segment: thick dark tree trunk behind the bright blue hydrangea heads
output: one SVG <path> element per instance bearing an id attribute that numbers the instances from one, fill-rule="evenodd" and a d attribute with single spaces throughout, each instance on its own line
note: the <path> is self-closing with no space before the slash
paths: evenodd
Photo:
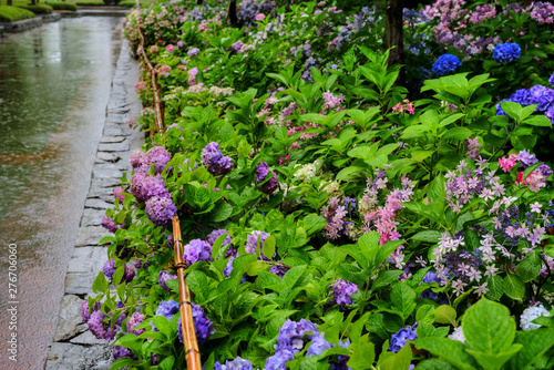
<path id="1" fill-rule="evenodd" d="M 387 49 L 391 49 L 389 52 L 389 66 L 393 64 L 406 64 L 404 60 L 404 38 L 402 34 L 402 9 L 403 0 L 388 0 L 387 11 L 386 11 L 386 43 Z M 397 80 L 397 85 L 406 85 L 406 70 L 402 68 Z"/>

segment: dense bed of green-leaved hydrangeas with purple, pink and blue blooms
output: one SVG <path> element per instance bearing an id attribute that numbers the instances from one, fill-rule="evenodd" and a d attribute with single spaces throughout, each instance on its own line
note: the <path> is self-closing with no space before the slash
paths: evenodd
<path id="1" fill-rule="evenodd" d="M 406 10 L 406 66 L 378 7 L 225 7 L 126 19 L 166 127 L 144 73 L 82 308 L 113 369 L 185 367 L 175 215 L 205 369 L 554 367 L 550 4 Z"/>

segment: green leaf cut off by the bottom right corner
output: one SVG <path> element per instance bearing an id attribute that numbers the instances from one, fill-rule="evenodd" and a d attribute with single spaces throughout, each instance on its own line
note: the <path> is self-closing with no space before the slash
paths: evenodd
<path id="1" fill-rule="evenodd" d="M 553 329 L 536 329 L 530 331 L 517 331 L 514 343 L 523 348 L 506 363 L 507 370 L 527 369 L 542 354 L 554 346 Z"/>

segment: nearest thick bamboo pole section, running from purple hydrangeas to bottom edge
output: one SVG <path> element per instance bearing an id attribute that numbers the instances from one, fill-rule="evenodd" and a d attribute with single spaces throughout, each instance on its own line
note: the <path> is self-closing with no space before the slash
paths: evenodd
<path id="1" fill-rule="evenodd" d="M 175 266 L 177 267 L 178 297 L 181 300 L 181 329 L 183 330 L 186 368 L 188 370 L 201 370 L 201 351 L 196 341 L 196 331 L 194 330 L 191 291 L 183 276 L 186 265 L 183 263 L 183 241 L 181 239 L 181 226 L 177 215 L 173 217 L 173 248 L 175 250 Z"/>

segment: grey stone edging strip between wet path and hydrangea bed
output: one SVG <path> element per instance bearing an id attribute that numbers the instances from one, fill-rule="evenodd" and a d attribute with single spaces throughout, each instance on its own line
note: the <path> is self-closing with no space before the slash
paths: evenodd
<path id="1" fill-rule="evenodd" d="M 144 134 L 127 125 L 129 119 L 137 116 L 141 110 L 133 89 L 138 75 L 138 63 L 131 58 L 125 40 L 112 82 L 103 136 L 92 169 L 75 248 L 65 276 L 64 296 L 44 367 L 48 370 L 100 370 L 109 369 L 111 364 L 111 346 L 88 330 L 80 308 L 81 302 L 92 294 L 92 284 L 107 260 L 107 247 L 98 246 L 98 241 L 107 235 L 100 226 L 101 218 L 107 208 L 113 207 L 113 192 L 121 185 L 123 172 L 131 173 L 131 150 L 144 143 Z"/>

